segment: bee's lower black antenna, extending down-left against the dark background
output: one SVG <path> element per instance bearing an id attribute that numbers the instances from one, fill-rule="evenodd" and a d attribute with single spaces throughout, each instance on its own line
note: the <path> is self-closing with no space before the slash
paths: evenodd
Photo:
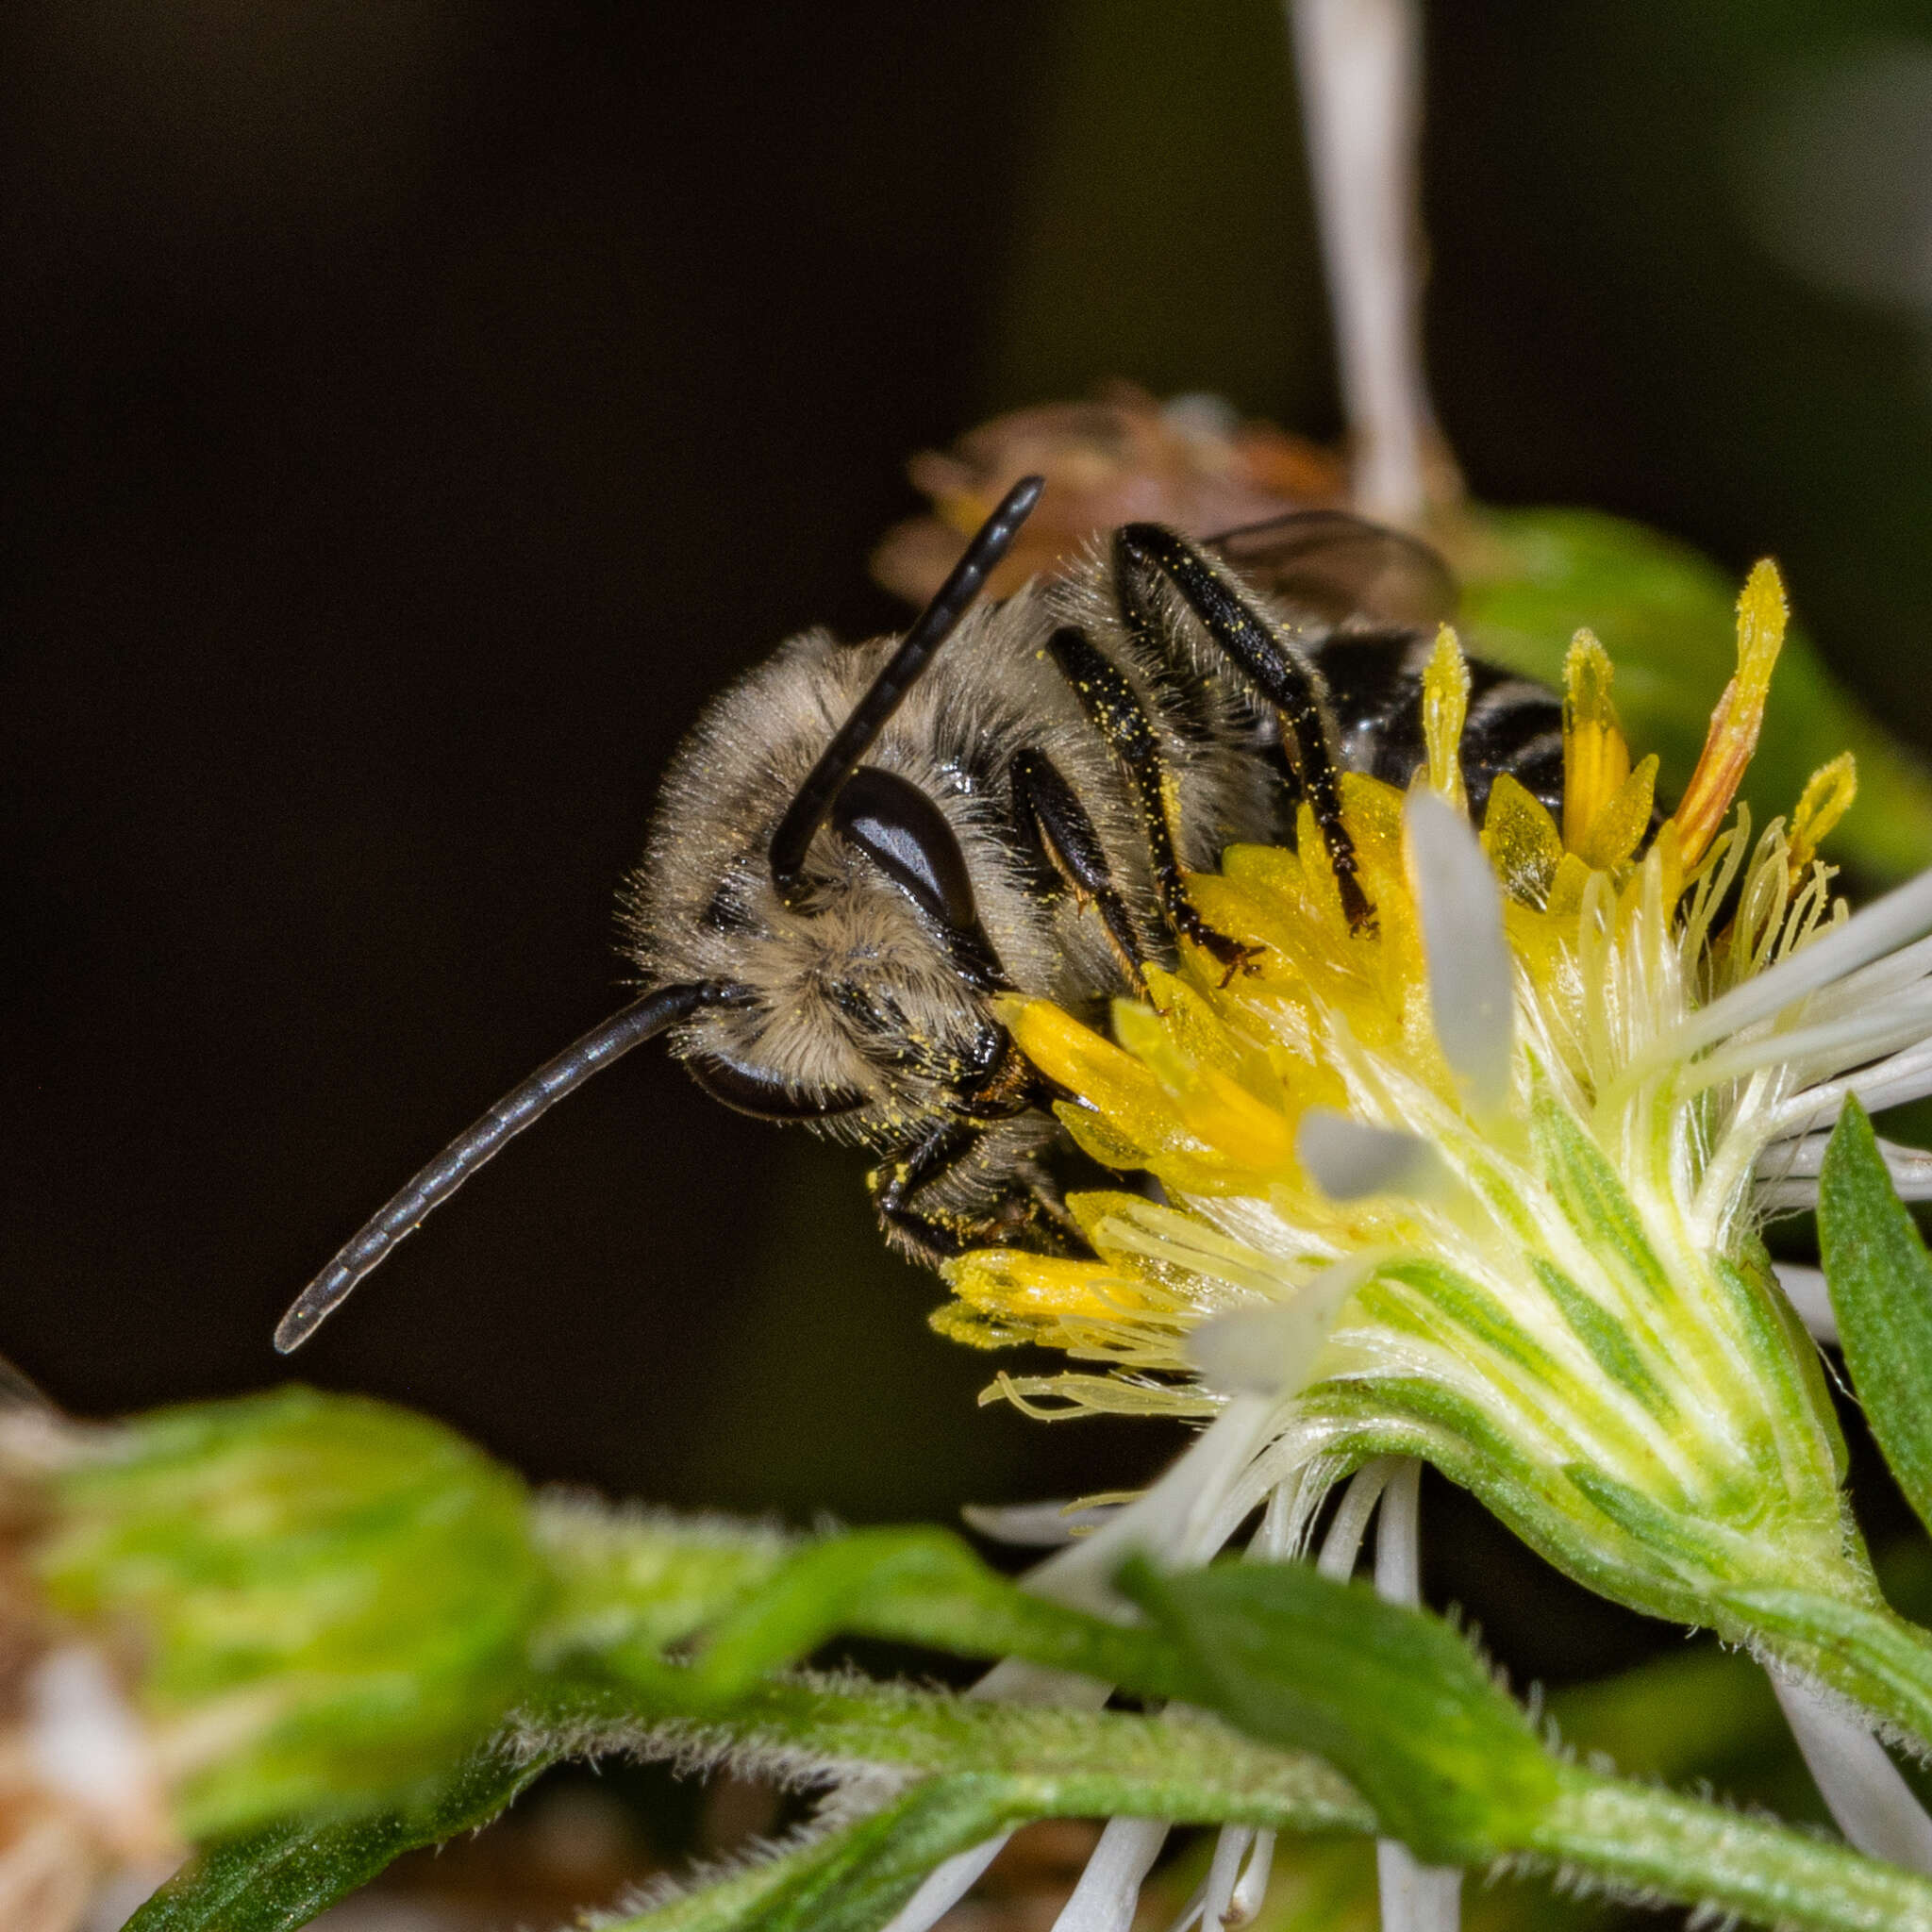
<path id="1" fill-rule="evenodd" d="M 688 1018 L 699 1007 L 717 1007 L 738 997 L 736 987 L 715 981 L 665 985 L 612 1012 L 580 1041 L 545 1061 L 468 1132 L 458 1134 L 413 1180 L 336 1250 L 334 1260 L 296 1296 L 274 1331 L 276 1352 L 299 1349 L 350 1296 L 350 1289 L 369 1269 L 388 1258 L 404 1235 L 413 1235 L 423 1217 L 440 1208 L 487 1159 L 547 1113 L 591 1074 L 630 1053 L 655 1034 Z"/>

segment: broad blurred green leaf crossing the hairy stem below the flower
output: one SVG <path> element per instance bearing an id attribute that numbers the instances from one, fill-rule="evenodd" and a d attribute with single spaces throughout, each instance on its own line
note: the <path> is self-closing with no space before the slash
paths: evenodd
<path id="1" fill-rule="evenodd" d="M 1549 1808 L 1553 1760 L 1447 1625 L 1296 1563 L 1169 1577 L 1138 1563 L 1122 1582 L 1211 1708 L 1327 1758 L 1424 1861 L 1493 1859 Z"/>

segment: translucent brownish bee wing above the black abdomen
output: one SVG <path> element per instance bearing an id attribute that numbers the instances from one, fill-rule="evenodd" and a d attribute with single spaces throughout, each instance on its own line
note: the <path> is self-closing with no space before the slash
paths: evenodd
<path id="1" fill-rule="evenodd" d="M 1341 624 L 1434 626 L 1455 616 L 1455 574 L 1426 545 L 1347 510 L 1294 510 L 1208 539 L 1256 589 Z"/>

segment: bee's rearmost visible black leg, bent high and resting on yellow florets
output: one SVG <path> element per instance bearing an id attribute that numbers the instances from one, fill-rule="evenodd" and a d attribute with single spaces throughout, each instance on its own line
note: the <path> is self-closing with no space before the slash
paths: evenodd
<path id="1" fill-rule="evenodd" d="M 1289 761 L 1321 829 L 1349 927 L 1374 929 L 1376 908 L 1356 877 L 1354 840 L 1341 815 L 1321 674 L 1192 543 L 1165 526 L 1126 524 L 1117 529 L 1113 568 L 1122 601 L 1144 601 L 1153 578 L 1167 578 L 1235 668 L 1281 713 Z"/>

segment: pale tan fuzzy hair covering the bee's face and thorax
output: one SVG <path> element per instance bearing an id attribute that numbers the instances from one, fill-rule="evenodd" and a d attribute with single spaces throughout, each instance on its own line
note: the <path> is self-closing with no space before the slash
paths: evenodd
<path id="1" fill-rule="evenodd" d="M 1020 750 L 1059 767 L 1155 956 L 1171 951 L 1134 796 L 1047 655 L 1055 628 L 1078 622 L 1140 692 L 1175 779 L 1184 866 L 1211 866 L 1233 838 L 1267 837 L 1279 804 L 1277 781 L 1252 755 L 1252 705 L 1233 680 L 1208 674 L 1192 618 L 1167 612 L 1163 630 L 1186 638 L 1177 663 L 1200 676 L 1196 707 L 1213 728 L 1173 726 L 1173 667 L 1140 661 L 1107 568 L 1095 553 L 1051 591 L 1028 587 L 972 611 L 866 757 L 945 813 L 1012 985 L 1074 1010 L 1094 1010 L 1128 980 L 1092 906 L 1043 875 L 1022 842 L 1012 808 Z M 667 773 L 645 862 L 624 895 L 628 951 L 647 983 L 724 981 L 752 995 L 694 1014 L 674 1051 L 755 1065 L 804 1092 L 862 1094 L 860 1109 L 823 1126 L 869 1146 L 902 1144 L 943 1107 L 935 1074 L 970 1059 L 989 1024 L 985 1001 L 910 898 L 846 840 L 819 831 L 800 910 L 779 896 L 769 850 L 786 804 L 895 641 L 842 645 L 811 630 L 723 692 Z M 856 1018 L 866 1007 L 885 1024 Z M 1051 1134 L 1039 1117 L 1007 1122 L 985 1136 L 970 1167 L 1010 1171 L 1016 1151 Z M 970 1179 L 960 1179 L 970 1194 Z"/>

